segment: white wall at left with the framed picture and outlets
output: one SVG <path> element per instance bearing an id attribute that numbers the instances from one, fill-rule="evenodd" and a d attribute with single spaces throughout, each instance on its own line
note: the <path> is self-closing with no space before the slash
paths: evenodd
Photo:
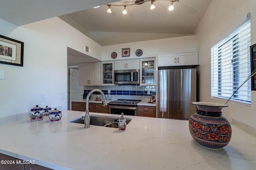
<path id="1" fill-rule="evenodd" d="M 83 53 L 89 45 L 96 49 L 94 58 L 102 57 L 100 45 L 57 17 L 20 27 L 0 19 L 0 35 L 24 42 L 23 67 L 0 64 L 6 74 L 0 80 L 0 117 L 27 113 L 36 105 L 67 109 L 67 47 Z M 41 93 L 46 102 L 39 102 Z"/>

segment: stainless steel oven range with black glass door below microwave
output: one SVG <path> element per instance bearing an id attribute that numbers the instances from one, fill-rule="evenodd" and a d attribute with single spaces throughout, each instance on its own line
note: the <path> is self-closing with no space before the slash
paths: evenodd
<path id="1" fill-rule="evenodd" d="M 124 115 L 137 115 L 137 104 L 141 100 L 123 100 L 118 99 L 109 102 L 109 113 L 120 115 L 122 112 Z"/>

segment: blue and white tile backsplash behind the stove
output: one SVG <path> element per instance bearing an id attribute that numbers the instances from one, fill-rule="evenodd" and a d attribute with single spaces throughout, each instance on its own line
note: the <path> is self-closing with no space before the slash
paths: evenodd
<path id="1" fill-rule="evenodd" d="M 84 94 L 88 94 L 93 89 L 100 89 L 104 94 L 108 94 L 108 90 L 110 90 L 111 95 L 151 96 L 152 94 L 156 94 L 156 86 L 136 85 L 84 86 Z"/>

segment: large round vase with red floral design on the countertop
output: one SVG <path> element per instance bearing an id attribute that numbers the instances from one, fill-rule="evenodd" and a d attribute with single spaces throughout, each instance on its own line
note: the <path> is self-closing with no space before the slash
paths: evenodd
<path id="1" fill-rule="evenodd" d="M 196 113 L 189 119 L 189 131 L 200 145 L 210 149 L 221 149 L 230 142 L 231 125 L 222 116 L 221 109 L 228 105 L 211 102 L 193 102 Z"/>

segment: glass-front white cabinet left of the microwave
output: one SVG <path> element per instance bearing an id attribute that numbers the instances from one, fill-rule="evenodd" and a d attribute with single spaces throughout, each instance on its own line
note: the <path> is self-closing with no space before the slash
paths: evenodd
<path id="1" fill-rule="evenodd" d="M 114 86 L 114 61 L 101 62 L 101 85 Z"/>

